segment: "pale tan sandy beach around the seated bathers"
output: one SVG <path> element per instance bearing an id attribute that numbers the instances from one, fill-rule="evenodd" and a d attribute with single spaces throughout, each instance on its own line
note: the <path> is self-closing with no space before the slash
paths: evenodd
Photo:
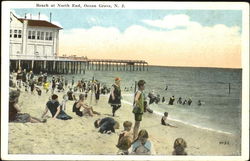
<path id="1" fill-rule="evenodd" d="M 40 118 L 45 109 L 51 92 L 43 91 L 42 96 L 30 94 L 22 89 L 19 103 L 22 112 Z M 63 93 L 56 93 L 61 102 Z M 78 98 L 78 94 L 76 94 Z M 90 97 L 88 97 L 89 99 Z M 123 130 L 123 122 L 128 120 L 134 124 L 132 107 L 122 103 L 122 107 L 114 117 L 120 123 L 120 128 L 110 135 L 98 133 L 94 127 L 97 118 L 111 116 L 111 107 L 107 103 L 108 95 L 101 95 L 97 105 L 93 104 L 100 116 L 78 117 L 72 112 L 74 101 L 67 102 L 66 113 L 72 120 L 52 119 L 47 113 L 47 123 L 9 123 L 9 154 L 97 154 L 115 155 L 118 135 Z M 88 100 L 89 102 L 89 100 Z M 94 102 L 94 98 L 93 98 Z M 145 113 L 140 129 L 149 132 L 156 155 L 171 155 L 174 140 L 182 137 L 187 142 L 188 155 L 199 156 L 238 156 L 241 155 L 240 137 L 199 129 L 180 122 L 169 121 L 178 128 L 166 127 L 160 124 L 161 117 Z"/>

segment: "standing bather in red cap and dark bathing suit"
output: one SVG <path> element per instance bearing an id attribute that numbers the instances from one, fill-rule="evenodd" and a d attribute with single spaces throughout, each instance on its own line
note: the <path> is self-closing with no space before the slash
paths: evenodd
<path id="1" fill-rule="evenodd" d="M 112 85 L 111 93 L 108 103 L 112 107 L 112 114 L 115 116 L 115 112 L 121 107 L 121 78 L 115 78 L 115 84 Z"/>

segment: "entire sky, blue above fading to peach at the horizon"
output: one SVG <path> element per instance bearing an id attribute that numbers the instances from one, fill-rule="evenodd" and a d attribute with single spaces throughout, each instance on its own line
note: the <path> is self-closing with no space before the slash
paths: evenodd
<path id="1" fill-rule="evenodd" d="M 240 10 L 12 9 L 61 26 L 59 55 L 241 68 Z"/>

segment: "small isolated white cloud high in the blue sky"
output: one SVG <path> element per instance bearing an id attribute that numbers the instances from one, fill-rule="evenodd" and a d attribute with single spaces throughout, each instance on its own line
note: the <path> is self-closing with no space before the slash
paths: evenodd
<path id="1" fill-rule="evenodd" d="M 177 27 L 200 27 L 199 23 L 189 20 L 185 14 L 167 15 L 158 20 L 142 20 L 147 25 L 160 27 L 164 29 L 174 29 Z"/>

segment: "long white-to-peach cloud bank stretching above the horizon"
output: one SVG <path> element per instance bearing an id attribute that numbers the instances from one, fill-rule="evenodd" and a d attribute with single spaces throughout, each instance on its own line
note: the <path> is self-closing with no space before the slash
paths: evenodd
<path id="1" fill-rule="evenodd" d="M 170 31 L 139 25 L 130 26 L 124 32 L 100 26 L 62 30 L 59 55 L 140 59 L 165 66 L 241 67 L 239 27 L 223 24 L 203 27 L 197 22 L 190 23 L 187 18 L 185 24 L 189 27 Z"/>

